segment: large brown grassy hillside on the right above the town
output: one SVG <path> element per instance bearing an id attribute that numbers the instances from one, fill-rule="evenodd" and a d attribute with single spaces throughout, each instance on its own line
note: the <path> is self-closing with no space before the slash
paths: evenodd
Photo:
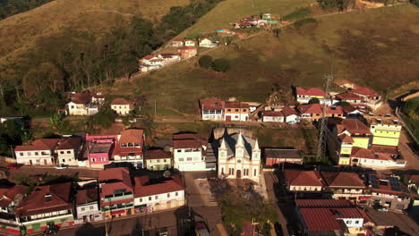
<path id="1" fill-rule="evenodd" d="M 330 72 L 331 58 L 340 79 L 384 92 L 417 80 L 418 8 L 409 4 L 365 12 L 324 16 L 317 23 L 269 32 L 210 51 L 227 58 L 227 73 L 201 69 L 197 58 L 135 80 L 119 83 L 115 93 L 142 94 L 159 108 L 198 114 L 201 97 L 262 101 L 274 84 L 317 86 Z"/>

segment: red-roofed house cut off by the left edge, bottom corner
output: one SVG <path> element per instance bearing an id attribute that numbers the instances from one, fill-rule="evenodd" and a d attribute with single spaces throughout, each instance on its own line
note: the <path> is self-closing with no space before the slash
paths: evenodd
<path id="1" fill-rule="evenodd" d="M 28 186 L 0 188 L 0 234 L 21 234 L 14 209 L 29 191 Z"/>

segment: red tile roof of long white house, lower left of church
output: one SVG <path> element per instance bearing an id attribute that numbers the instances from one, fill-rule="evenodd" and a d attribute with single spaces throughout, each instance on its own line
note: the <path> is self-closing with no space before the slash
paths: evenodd
<path id="1" fill-rule="evenodd" d="M 148 176 L 135 177 L 135 198 L 142 198 L 162 193 L 184 190 L 184 184 L 179 176 L 172 176 L 171 180 L 165 180 L 152 184 Z"/>

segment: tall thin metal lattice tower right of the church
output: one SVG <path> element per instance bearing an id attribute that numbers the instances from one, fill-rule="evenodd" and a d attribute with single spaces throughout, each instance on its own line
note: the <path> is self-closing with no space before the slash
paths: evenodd
<path id="1" fill-rule="evenodd" d="M 326 93 L 326 96 L 329 95 L 329 87 L 332 80 L 333 80 L 333 74 L 324 75 L 323 89 L 324 89 L 324 92 Z M 326 133 L 325 131 L 326 129 L 328 129 L 327 127 L 328 117 L 326 114 L 328 105 L 329 105 L 329 98 L 327 97 L 323 103 L 321 120 L 319 123 L 319 142 L 317 144 L 317 155 L 316 155 L 317 161 L 321 161 L 322 159 L 324 160 L 324 158 L 326 157 Z"/>

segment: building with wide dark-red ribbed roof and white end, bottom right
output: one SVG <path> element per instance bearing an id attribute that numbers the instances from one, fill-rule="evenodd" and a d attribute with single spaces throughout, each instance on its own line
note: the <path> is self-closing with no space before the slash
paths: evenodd
<path id="1" fill-rule="evenodd" d="M 357 235 L 365 233 L 368 218 L 347 200 L 297 199 L 295 212 L 304 235 Z"/>

